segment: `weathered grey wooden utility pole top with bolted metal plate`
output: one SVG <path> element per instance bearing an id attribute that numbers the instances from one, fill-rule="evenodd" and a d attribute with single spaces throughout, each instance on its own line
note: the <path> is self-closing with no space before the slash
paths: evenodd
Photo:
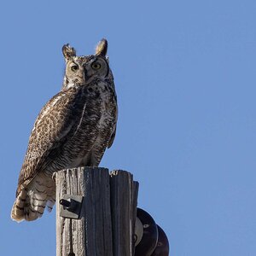
<path id="1" fill-rule="evenodd" d="M 56 255 L 132 256 L 138 183 L 125 171 L 55 172 Z"/>

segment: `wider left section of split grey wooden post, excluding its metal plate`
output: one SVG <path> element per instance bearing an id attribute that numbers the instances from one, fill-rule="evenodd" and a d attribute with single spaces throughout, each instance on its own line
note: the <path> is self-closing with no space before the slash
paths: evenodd
<path id="1" fill-rule="evenodd" d="M 57 256 L 112 256 L 108 169 L 80 167 L 56 172 Z M 79 219 L 62 218 L 64 194 L 83 195 Z"/>

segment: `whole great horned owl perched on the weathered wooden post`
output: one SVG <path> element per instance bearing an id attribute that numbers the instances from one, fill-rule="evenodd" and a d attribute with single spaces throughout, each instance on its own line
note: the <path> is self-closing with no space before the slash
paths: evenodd
<path id="1" fill-rule="evenodd" d="M 61 91 L 38 114 L 20 170 L 11 218 L 34 220 L 55 204 L 53 172 L 98 166 L 115 137 L 117 98 L 106 57 L 106 39 L 96 54 L 77 56 L 62 48 L 66 73 Z"/>

